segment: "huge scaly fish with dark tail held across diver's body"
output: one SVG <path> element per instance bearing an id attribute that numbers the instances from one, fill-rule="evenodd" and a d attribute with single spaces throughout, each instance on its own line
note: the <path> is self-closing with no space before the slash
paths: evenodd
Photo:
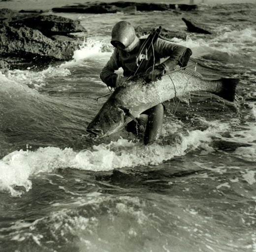
<path id="1" fill-rule="evenodd" d="M 87 131 L 104 137 L 123 129 L 130 121 L 157 104 L 185 93 L 206 91 L 233 101 L 238 79 L 204 80 L 192 70 L 180 70 L 146 83 L 143 78 L 118 87 L 103 104 Z"/>

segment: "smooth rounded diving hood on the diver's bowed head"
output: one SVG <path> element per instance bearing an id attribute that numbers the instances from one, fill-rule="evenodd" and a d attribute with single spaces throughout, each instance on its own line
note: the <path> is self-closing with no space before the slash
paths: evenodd
<path id="1" fill-rule="evenodd" d="M 120 49 L 128 47 L 136 38 L 133 26 L 127 21 L 116 23 L 111 33 L 111 44 Z"/>

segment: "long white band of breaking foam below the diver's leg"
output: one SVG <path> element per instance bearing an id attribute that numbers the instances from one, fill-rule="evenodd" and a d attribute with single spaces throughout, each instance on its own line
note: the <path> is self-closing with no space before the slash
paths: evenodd
<path id="1" fill-rule="evenodd" d="M 56 147 L 39 148 L 36 151 L 14 151 L 0 160 L 0 188 L 13 196 L 20 196 L 32 188 L 32 177 L 41 172 L 51 173 L 58 168 L 92 171 L 108 171 L 115 168 L 157 165 L 164 160 L 183 156 L 187 152 L 202 148 L 209 151 L 211 137 L 216 137 L 220 128 L 214 122 L 207 130 L 193 130 L 177 134 L 176 140 L 166 145 L 154 143 L 145 146 L 126 139 L 109 144 L 93 146 L 91 150 L 75 152 Z M 221 126 L 221 125 L 220 125 Z M 166 139 L 165 139 L 166 140 Z"/>

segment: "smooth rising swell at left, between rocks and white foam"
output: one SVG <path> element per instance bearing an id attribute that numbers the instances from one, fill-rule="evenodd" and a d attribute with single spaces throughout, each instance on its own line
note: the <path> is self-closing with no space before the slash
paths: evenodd
<path id="1" fill-rule="evenodd" d="M 88 113 L 79 100 L 40 94 L 0 74 L 0 132 L 10 143 L 68 146 L 86 133 Z"/>

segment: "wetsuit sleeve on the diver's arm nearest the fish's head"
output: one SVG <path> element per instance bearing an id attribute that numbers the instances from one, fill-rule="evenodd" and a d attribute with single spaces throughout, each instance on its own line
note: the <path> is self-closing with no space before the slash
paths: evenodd
<path id="1" fill-rule="evenodd" d="M 117 74 L 114 73 L 115 70 L 118 70 L 120 67 L 118 59 L 118 51 L 115 48 L 114 52 L 111 55 L 110 60 L 102 68 L 100 72 L 100 79 L 107 84 L 108 87 L 114 88 L 116 86 Z"/>

